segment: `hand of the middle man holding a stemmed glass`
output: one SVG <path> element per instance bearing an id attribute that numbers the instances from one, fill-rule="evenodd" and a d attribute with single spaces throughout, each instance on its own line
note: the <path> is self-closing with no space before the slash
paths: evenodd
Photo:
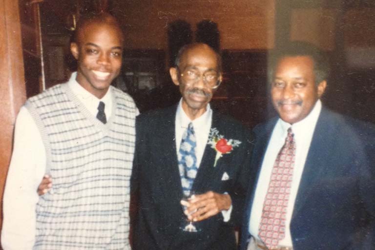
<path id="1" fill-rule="evenodd" d="M 204 194 L 193 195 L 188 202 L 181 201 L 187 209 L 184 211 L 189 220 L 202 221 L 228 210 L 232 204 L 229 194 L 208 191 Z"/>

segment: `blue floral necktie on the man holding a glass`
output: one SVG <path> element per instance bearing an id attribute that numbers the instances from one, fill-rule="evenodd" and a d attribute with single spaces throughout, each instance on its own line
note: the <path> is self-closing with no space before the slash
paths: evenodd
<path id="1" fill-rule="evenodd" d="M 193 124 L 189 123 L 187 130 L 182 135 L 181 146 L 178 155 L 178 167 L 180 169 L 182 190 L 188 196 L 195 176 L 198 171 L 197 157 L 195 155 L 196 139 Z"/>

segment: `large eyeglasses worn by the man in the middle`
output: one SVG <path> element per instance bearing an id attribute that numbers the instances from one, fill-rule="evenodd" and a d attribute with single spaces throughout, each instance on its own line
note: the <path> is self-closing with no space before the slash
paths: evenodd
<path id="1" fill-rule="evenodd" d="M 177 68 L 180 71 L 179 68 Z M 201 77 L 203 78 L 203 82 L 208 85 L 210 88 L 217 88 L 219 87 L 220 75 L 215 70 L 207 70 L 203 74 L 196 69 L 186 69 L 180 74 L 182 80 L 185 83 L 197 83 Z"/>

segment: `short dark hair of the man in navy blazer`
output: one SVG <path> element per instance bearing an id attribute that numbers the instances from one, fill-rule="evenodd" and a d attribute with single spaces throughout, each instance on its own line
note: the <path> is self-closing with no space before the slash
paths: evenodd
<path id="1" fill-rule="evenodd" d="M 275 48 L 269 55 L 268 79 L 271 83 L 277 63 L 285 57 L 307 56 L 314 62 L 315 85 L 327 80 L 330 63 L 326 53 L 308 42 L 293 41 Z"/>

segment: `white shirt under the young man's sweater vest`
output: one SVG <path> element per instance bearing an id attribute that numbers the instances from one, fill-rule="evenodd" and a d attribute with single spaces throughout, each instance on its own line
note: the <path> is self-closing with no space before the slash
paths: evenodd
<path id="1" fill-rule="evenodd" d="M 77 83 L 73 73 L 67 83 L 87 110 L 96 117 L 99 102 L 105 104 L 107 120 L 112 114 L 112 91 L 99 100 Z M 110 87 L 111 88 L 111 87 Z M 37 188 L 46 171 L 46 152 L 41 133 L 22 106 L 17 116 L 14 147 L 3 198 L 1 245 L 4 250 L 31 250 L 36 234 Z"/>

